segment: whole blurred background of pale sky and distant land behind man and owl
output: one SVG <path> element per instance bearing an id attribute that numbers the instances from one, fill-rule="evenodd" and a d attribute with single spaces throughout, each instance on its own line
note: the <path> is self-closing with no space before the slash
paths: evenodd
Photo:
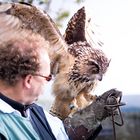
<path id="1" fill-rule="evenodd" d="M 111 63 L 103 80 L 93 94 L 117 88 L 123 92 L 122 127 L 116 127 L 117 140 L 140 140 L 140 1 L 139 0 L 0 0 L 27 2 L 46 11 L 57 24 L 62 35 L 67 23 L 82 6 L 86 7 L 90 37 L 103 42 Z M 94 33 L 93 33 L 94 32 Z M 88 36 L 87 36 L 88 37 Z M 53 103 L 51 85 L 40 96 L 38 104 L 48 110 Z M 103 130 L 97 140 L 113 140 L 112 122 L 102 122 Z"/>

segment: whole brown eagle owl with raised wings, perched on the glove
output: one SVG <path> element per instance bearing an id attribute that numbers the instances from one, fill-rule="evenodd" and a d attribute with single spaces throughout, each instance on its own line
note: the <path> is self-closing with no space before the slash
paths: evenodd
<path id="1" fill-rule="evenodd" d="M 6 36 L 28 31 L 41 35 L 49 43 L 52 91 L 55 100 L 50 113 L 66 118 L 84 108 L 94 96 L 90 92 L 109 66 L 102 50 L 91 46 L 85 37 L 86 14 L 84 7 L 71 18 L 64 36 L 47 13 L 33 5 L 2 3 L 0 5 L 0 33 Z M 8 32 L 7 32 L 8 31 Z M 37 36 L 38 37 L 38 36 Z"/>

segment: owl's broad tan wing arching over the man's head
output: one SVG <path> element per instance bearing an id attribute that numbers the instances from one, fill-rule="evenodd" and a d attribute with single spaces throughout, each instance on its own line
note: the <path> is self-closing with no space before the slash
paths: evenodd
<path id="1" fill-rule="evenodd" d="M 66 55 L 67 45 L 55 23 L 47 13 L 33 5 L 1 3 L 0 27 L 4 27 L 0 28 L 0 41 L 14 38 L 14 35 L 26 30 L 40 34 L 50 43 L 49 55 L 53 65 Z"/>

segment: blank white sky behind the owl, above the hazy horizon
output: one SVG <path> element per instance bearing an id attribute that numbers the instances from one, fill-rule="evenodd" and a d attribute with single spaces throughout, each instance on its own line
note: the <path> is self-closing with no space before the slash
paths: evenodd
<path id="1" fill-rule="evenodd" d="M 101 49 L 111 63 L 95 93 L 117 88 L 125 95 L 140 95 L 140 1 L 85 0 L 81 5 L 74 5 L 72 0 L 62 0 L 55 6 L 70 10 L 71 16 L 85 6 L 92 24 L 97 25 L 97 31 L 99 29 L 99 37 L 104 43 Z"/>

